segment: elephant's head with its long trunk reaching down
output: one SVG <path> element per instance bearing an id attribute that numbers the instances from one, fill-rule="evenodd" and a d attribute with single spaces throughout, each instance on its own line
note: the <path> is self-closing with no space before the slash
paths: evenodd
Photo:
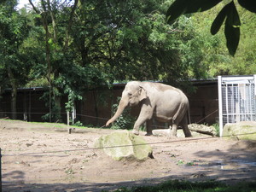
<path id="1" fill-rule="evenodd" d="M 132 81 L 126 84 L 125 90 L 123 91 L 121 100 L 119 102 L 118 109 L 116 113 L 113 115 L 113 117 L 108 120 L 106 126 L 108 126 L 109 124 L 113 123 L 113 121 L 118 119 L 127 106 L 135 106 L 147 97 L 147 91 L 144 90 L 140 82 Z"/>

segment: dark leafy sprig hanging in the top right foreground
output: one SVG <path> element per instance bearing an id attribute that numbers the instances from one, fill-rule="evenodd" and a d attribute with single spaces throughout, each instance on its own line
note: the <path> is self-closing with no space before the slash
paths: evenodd
<path id="1" fill-rule="evenodd" d="M 224 1 L 225 0 L 176 0 L 166 12 L 166 21 L 167 23 L 172 24 L 181 15 L 206 11 Z M 238 3 L 244 9 L 256 13 L 255 0 L 238 0 Z M 236 4 L 233 0 L 230 3 L 227 3 L 218 13 L 215 20 L 213 20 L 211 27 L 212 35 L 215 35 L 218 32 L 223 23 L 227 48 L 229 49 L 230 55 L 234 56 L 240 40 L 241 21 L 236 9 Z"/>

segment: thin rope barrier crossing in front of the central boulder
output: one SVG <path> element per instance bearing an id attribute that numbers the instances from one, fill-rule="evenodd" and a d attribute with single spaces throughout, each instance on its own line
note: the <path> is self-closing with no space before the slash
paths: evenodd
<path id="1" fill-rule="evenodd" d="M 237 137 L 237 136 L 252 135 L 252 134 L 256 134 L 256 131 L 250 132 L 250 133 L 237 134 L 237 135 L 223 136 L 223 137 Z M 166 142 L 139 143 L 139 144 L 131 144 L 131 145 L 116 145 L 116 146 L 101 147 L 101 148 L 67 149 L 67 150 L 58 150 L 58 151 L 44 151 L 44 152 L 38 152 L 38 153 L 26 153 L 26 154 L 3 154 L 3 156 L 38 156 L 38 154 L 67 153 L 67 152 L 75 152 L 75 151 L 98 150 L 98 149 L 104 149 L 104 148 L 125 148 L 125 147 L 136 147 L 136 146 L 142 146 L 142 145 L 157 145 L 157 144 L 163 144 L 163 143 L 194 142 L 194 141 L 199 141 L 199 140 L 216 139 L 216 138 L 220 138 L 220 137 L 186 138 L 186 139 L 172 140 L 172 141 L 166 141 Z M 40 156 L 43 156 L 43 155 L 40 155 Z"/>

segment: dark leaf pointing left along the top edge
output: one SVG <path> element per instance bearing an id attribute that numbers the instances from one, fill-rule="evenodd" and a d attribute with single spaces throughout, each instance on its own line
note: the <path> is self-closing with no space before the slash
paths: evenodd
<path id="1" fill-rule="evenodd" d="M 176 0 L 166 12 L 166 21 L 172 24 L 180 15 L 211 9 L 222 0 Z"/>

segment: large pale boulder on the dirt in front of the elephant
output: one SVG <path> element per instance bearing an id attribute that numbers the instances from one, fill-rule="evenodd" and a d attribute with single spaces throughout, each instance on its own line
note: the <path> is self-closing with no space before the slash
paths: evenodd
<path id="1" fill-rule="evenodd" d="M 113 160 L 147 160 L 148 157 L 153 157 L 152 148 L 146 144 L 143 137 L 135 136 L 129 131 L 102 136 L 96 140 L 95 147 L 102 148 Z"/>

